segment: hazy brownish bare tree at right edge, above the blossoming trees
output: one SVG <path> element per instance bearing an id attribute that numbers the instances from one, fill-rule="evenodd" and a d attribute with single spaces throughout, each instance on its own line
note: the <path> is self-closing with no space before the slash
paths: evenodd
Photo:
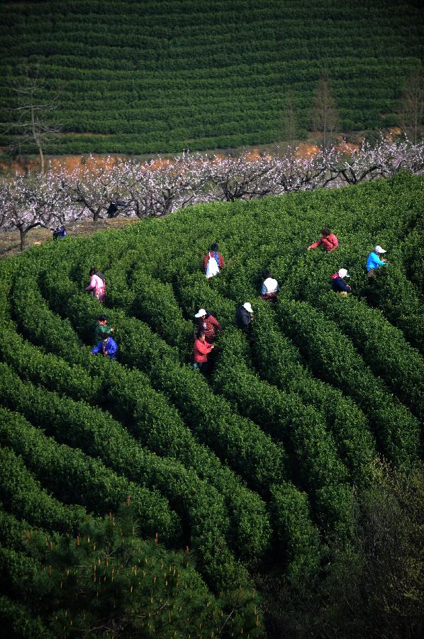
<path id="1" fill-rule="evenodd" d="M 401 126 L 416 144 L 422 132 L 424 115 L 424 74 L 417 65 L 408 75 L 401 99 Z"/>

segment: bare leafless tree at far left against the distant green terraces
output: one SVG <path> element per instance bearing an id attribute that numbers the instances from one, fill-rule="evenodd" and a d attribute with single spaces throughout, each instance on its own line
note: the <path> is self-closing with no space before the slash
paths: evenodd
<path id="1" fill-rule="evenodd" d="M 10 148 L 13 152 L 25 145 L 33 145 L 40 156 L 40 172 L 44 172 L 45 148 L 55 133 L 61 130 L 55 121 L 59 107 L 58 94 L 47 94 L 45 80 L 40 77 L 39 67 L 23 67 L 23 77 L 13 87 L 17 106 L 13 109 L 13 123 L 6 132 L 11 133 Z"/>

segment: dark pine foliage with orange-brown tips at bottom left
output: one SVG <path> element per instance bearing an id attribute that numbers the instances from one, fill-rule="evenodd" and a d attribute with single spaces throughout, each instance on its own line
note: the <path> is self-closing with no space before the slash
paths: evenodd
<path id="1" fill-rule="evenodd" d="M 10 515 L 2 519 L 15 531 L 24 528 Z M 2 621 L 6 618 L 18 636 L 40 636 L 38 615 L 45 619 L 47 636 L 96 632 L 105 637 L 171 637 L 189 632 L 199 637 L 225 628 L 228 602 L 208 591 L 191 553 L 140 540 L 133 508 L 121 508 L 117 518 L 87 520 L 77 537 L 46 536 L 25 527 L 18 539 L 19 550 L 0 549 L 1 586 L 12 596 L 21 592 L 25 605 L 12 603 L 12 621 L 11 612 L 4 610 L 7 600 L 1 599 Z M 224 635 L 256 636 L 260 619 L 255 599 L 239 597 L 234 605 Z M 28 628 L 31 613 L 35 618 Z"/>

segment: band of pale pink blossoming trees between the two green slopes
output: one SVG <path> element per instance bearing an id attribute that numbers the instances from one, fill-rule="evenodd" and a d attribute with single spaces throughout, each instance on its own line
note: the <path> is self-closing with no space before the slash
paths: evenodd
<path id="1" fill-rule="evenodd" d="M 184 153 L 159 165 L 157 160 L 118 160 L 115 165 L 106 163 L 106 168 L 85 163 L 72 173 L 50 170 L 1 180 L 0 226 L 18 229 L 23 248 L 26 234 L 35 226 L 66 226 L 88 218 L 96 221 L 116 201 L 125 202 L 117 214 L 142 219 L 189 204 L 254 200 L 423 169 L 424 143 L 392 142 L 383 137 L 376 146 L 363 141 L 350 155 L 333 147 L 308 157 L 289 150 L 286 155 L 254 160 L 248 155 L 218 158 Z"/>

